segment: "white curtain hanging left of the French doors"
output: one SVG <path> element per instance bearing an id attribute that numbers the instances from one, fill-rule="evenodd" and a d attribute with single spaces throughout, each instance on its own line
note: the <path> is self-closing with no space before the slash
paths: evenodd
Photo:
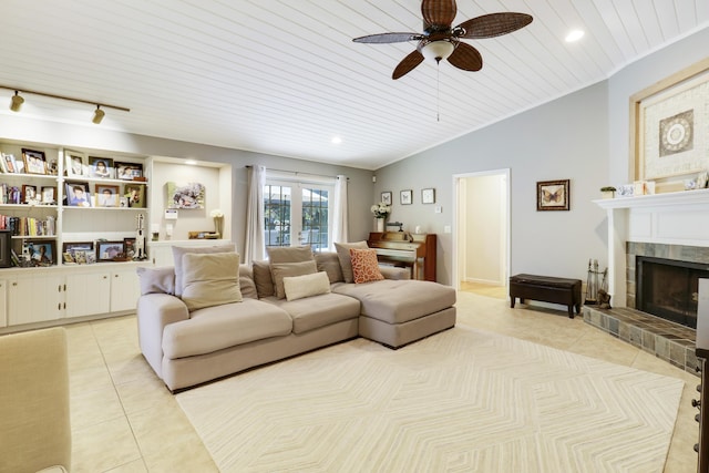
<path id="1" fill-rule="evenodd" d="M 266 167 L 251 166 L 248 169 L 248 200 L 246 207 L 246 241 L 244 243 L 244 263 L 266 258 L 264 236 L 264 186 Z"/>

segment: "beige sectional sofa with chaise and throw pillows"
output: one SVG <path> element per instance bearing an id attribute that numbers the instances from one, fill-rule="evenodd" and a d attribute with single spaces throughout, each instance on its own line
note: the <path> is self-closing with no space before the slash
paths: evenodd
<path id="1" fill-rule="evenodd" d="M 174 268 L 138 269 L 143 356 L 176 391 L 359 336 L 399 348 L 455 325 L 453 288 L 384 267 L 356 284 L 349 249 L 278 248 L 246 266 L 232 246 L 174 247 Z"/>

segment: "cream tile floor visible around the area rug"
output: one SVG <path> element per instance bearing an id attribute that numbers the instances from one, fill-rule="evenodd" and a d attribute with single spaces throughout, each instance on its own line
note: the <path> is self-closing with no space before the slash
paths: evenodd
<path id="1" fill-rule="evenodd" d="M 459 292 L 459 321 L 686 381 L 665 471 L 693 472 L 698 378 L 559 310 L 504 294 Z M 214 472 L 202 441 L 143 360 L 134 316 L 66 326 L 72 398 L 72 472 Z"/>

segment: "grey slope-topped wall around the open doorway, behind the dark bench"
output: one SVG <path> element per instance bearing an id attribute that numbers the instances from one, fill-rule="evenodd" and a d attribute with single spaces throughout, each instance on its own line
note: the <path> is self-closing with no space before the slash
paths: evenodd
<path id="1" fill-rule="evenodd" d="M 452 176 L 510 168 L 511 274 L 583 280 L 588 258 L 606 255 L 605 235 L 596 233 L 605 213 L 590 200 L 608 175 L 607 115 L 604 82 L 382 167 L 376 193 L 394 192 L 391 218 L 405 229 L 422 225 L 439 235 L 439 281 L 452 285 Z M 441 114 L 441 126 L 449 116 Z M 557 179 L 571 181 L 571 210 L 537 212 L 536 183 Z M 415 198 L 424 187 L 436 188 L 441 213 Z M 399 205 L 402 188 L 414 189 L 413 205 Z"/>

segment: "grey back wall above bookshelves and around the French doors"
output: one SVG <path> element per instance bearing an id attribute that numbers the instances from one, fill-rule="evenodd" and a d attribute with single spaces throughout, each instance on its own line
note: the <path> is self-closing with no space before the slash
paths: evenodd
<path id="1" fill-rule="evenodd" d="M 11 114 L 11 115 L 10 115 Z M 232 239 L 239 253 L 243 253 L 246 235 L 246 202 L 247 202 L 247 165 L 263 165 L 267 168 L 336 176 L 348 176 L 349 186 L 349 227 L 350 240 L 367 239 L 372 225 L 369 196 L 372 195 L 372 175 L 368 169 L 336 166 L 291 157 L 274 156 L 242 150 L 209 146 L 198 143 L 165 140 L 106 130 L 89 124 L 73 125 L 55 123 L 12 112 L 0 112 L 0 140 L 21 141 L 25 144 L 37 144 L 48 147 L 79 147 L 102 151 L 103 156 L 110 153 L 135 154 L 141 156 L 169 156 L 191 158 L 205 162 L 232 164 L 232 213 L 225 218 L 225 225 L 230 226 Z M 150 185 L 150 183 L 148 183 Z M 158 188 L 156 192 L 164 192 Z M 364 199 L 361 196 L 366 196 Z M 155 209 L 163 212 L 162 209 Z"/>

